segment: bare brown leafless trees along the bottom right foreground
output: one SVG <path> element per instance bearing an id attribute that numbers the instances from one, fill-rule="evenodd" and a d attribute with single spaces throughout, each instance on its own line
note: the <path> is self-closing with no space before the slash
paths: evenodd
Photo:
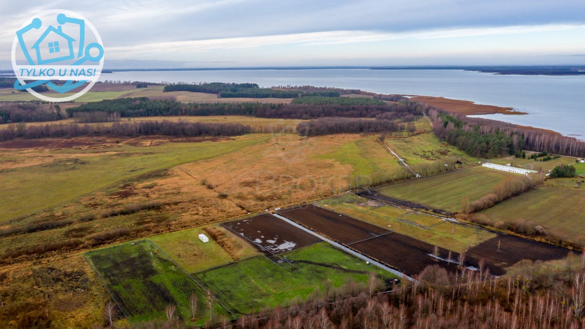
<path id="1" fill-rule="evenodd" d="M 510 276 L 495 277 L 483 261 L 477 270 L 448 273 L 439 263 L 415 282 L 403 279 L 381 292 L 377 277 L 334 287 L 325 281 L 306 300 L 244 314 L 236 321 L 212 316 L 206 328 L 405 329 L 405 328 L 581 328 L 585 325 L 585 258 L 574 255 L 552 267 L 522 261 Z M 184 323 L 186 325 L 187 323 Z M 140 327 L 182 327 L 183 320 Z"/>

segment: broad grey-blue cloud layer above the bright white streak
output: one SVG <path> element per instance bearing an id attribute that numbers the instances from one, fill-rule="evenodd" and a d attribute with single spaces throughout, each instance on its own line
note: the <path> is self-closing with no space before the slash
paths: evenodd
<path id="1" fill-rule="evenodd" d="M 276 44 L 274 36 L 316 32 L 356 32 L 357 37 L 361 36 L 357 32 L 368 32 L 365 34 L 371 37 L 448 29 L 585 25 L 585 2 L 552 0 L 56 0 L 26 4 L 0 0 L 0 8 L 0 60 L 8 60 L 14 31 L 22 22 L 54 8 L 90 19 L 106 49 L 260 36 L 273 36 L 271 44 Z M 143 52 L 149 53 L 149 49 L 145 47 Z M 297 52 L 302 54 L 302 50 Z"/>

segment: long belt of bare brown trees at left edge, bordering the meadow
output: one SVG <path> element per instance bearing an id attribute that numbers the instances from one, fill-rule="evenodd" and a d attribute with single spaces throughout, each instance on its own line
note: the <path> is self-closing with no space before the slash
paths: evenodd
<path id="1" fill-rule="evenodd" d="M 204 123 L 187 121 L 113 122 L 112 125 L 47 124 L 44 126 L 9 125 L 0 130 L 0 141 L 22 138 L 60 138 L 77 136 L 236 136 L 250 133 L 252 128 L 242 124 Z"/>

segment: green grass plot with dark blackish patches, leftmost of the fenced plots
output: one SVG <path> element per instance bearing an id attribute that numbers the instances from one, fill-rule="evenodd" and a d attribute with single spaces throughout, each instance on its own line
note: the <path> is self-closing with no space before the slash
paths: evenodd
<path id="1" fill-rule="evenodd" d="M 179 318 L 189 320 L 191 294 L 198 297 L 197 324 L 209 318 L 205 308 L 205 290 L 177 268 L 152 242 L 127 242 L 85 255 L 130 322 L 163 319 L 168 305 L 177 307 Z M 214 302 L 212 309 L 215 314 L 226 314 L 218 303 Z"/>

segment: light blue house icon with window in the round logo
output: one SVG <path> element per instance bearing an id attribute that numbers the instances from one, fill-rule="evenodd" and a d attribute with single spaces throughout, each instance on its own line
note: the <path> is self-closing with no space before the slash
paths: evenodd
<path id="1" fill-rule="evenodd" d="M 57 28 L 49 26 L 31 47 L 36 51 L 37 65 L 74 59 L 74 41 L 73 37 L 63 33 L 61 25 L 57 26 Z"/>

